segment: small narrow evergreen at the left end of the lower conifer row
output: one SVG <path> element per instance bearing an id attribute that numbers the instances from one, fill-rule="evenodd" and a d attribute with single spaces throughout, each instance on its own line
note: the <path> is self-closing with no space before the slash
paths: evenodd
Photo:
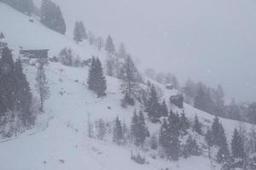
<path id="1" fill-rule="evenodd" d="M 113 127 L 113 142 L 116 144 L 122 144 L 124 139 L 124 133 L 122 124 L 119 121 L 119 117 L 115 119 L 114 127 Z"/>

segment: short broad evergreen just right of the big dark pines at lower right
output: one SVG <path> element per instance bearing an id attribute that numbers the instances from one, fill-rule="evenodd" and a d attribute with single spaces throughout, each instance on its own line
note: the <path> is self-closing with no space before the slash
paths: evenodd
<path id="1" fill-rule="evenodd" d="M 187 158 L 189 156 L 200 156 L 201 150 L 199 149 L 199 146 L 196 144 L 196 140 L 192 139 L 192 137 L 189 135 L 189 138 L 186 141 L 186 144 L 183 148 L 183 157 Z"/>

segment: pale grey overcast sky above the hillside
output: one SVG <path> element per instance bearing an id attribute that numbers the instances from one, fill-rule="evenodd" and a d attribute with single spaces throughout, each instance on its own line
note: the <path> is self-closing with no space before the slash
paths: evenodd
<path id="1" fill-rule="evenodd" d="M 35 0 L 37 3 L 40 0 Z M 255 0 L 54 0 L 75 20 L 125 42 L 143 68 L 171 71 L 256 101 Z"/>

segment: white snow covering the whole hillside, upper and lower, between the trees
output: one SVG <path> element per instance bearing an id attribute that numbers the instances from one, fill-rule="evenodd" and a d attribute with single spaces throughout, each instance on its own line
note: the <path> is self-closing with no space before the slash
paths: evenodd
<path id="1" fill-rule="evenodd" d="M 86 42 L 78 46 L 73 40 L 50 31 L 38 20 L 28 21 L 26 15 L 16 12 L 0 3 L 0 31 L 6 36 L 9 47 L 18 53 L 23 48 L 49 48 L 50 55 L 56 55 L 63 47 L 71 47 L 81 57 L 89 58 L 98 55 L 104 58 L 104 52 L 98 52 Z M 9 16 L 9 17 L 2 17 Z M 9 20 L 9 19 L 12 20 Z M 17 57 L 17 55 L 15 55 Z M 36 68 L 24 65 L 26 77 L 30 82 L 33 94 Z M 45 113 L 38 117 L 38 123 L 32 132 L 21 134 L 13 139 L 0 141 L 0 165 L 4 170 L 189 170 L 195 166 L 199 170 L 211 169 L 210 161 L 205 156 L 189 157 L 180 161 L 164 161 L 157 157 L 153 159 L 150 152 L 145 152 L 148 164 L 139 165 L 131 161 L 131 148 L 117 146 L 107 141 L 98 141 L 87 137 L 88 116 L 90 122 L 102 118 L 112 122 L 116 116 L 128 125 L 134 107 L 124 109 L 120 106 L 122 94 L 119 91 L 119 80 L 107 77 L 107 97 L 96 98 L 96 95 L 86 88 L 88 68 L 71 68 L 59 63 L 51 63 L 46 67 L 49 81 L 50 97 L 45 105 Z M 177 91 L 167 90 L 157 84 L 168 99 Z M 136 106 L 139 109 L 139 106 Z M 173 106 L 172 106 L 173 107 Z M 176 109 L 177 108 L 173 108 Z M 178 111 L 178 110 L 177 110 Z M 190 119 L 195 114 L 204 124 L 209 124 L 213 116 L 198 111 L 190 105 L 184 105 L 186 116 Z M 230 137 L 238 122 L 221 119 Z M 159 125 L 148 123 L 151 133 L 159 130 Z M 250 126 L 250 125 L 247 125 Z M 230 138 L 229 138 L 230 139 Z M 203 142 L 203 141 L 202 141 Z M 217 166 L 216 169 L 219 169 Z"/>

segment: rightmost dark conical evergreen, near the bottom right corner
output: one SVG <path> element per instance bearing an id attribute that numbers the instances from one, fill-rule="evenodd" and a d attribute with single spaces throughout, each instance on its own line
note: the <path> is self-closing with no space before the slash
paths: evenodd
<path id="1" fill-rule="evenodd" d="M 235 158 L 243 158 L 244 156 L 244 147 L 241 139 L 241 135 L 238 133 L 238 130 L 235 128 L 232 140 L 231 140 L 231 150 L 232 156 Z"/>

